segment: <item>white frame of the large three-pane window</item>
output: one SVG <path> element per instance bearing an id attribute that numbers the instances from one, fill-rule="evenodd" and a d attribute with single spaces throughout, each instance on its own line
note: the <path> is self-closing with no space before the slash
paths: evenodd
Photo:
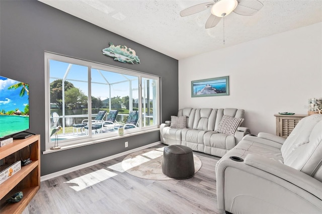
<path id="1" fill-rule="evenodd" d="M 137 134 L 142 134 L 145 132 L 150 132 L 150 131 L 155 131 L 156 129 L 159 128 L 160 125 L 160 77 L 152 74 L 146 74 L 143 72 L 139 72 L 136 70 L 131 70 L 127 68 L 122 68 L 122 67 L 117 67 L 113 65 L 108 65 L 108 64 L 103 64 L 103 63 L 98 63 L 98 62 L 93 62 L 89 60 L 84 60 L 84 59 L 77 59 L 74 57 L 69 57 L 69 56 L 64 56 L 60 55 L 57 53 L 52 53 L 52 52 L 45 52 L 44 54 L 44 59 L 45 59 L 45 151 L 43 154 L 55 152 L 55 151 L 61 151 L 65 149 L 70 149 L 70 148 L 75 148 L 79 146 L 86 146 L 94 143 L 101 143 L 101 142 L 106 142 L 110 140 L 115 140 L 119 138 L 124 138 L 128 137 L 131 135 L 137 135 Z M 142 119 L 144 116 L 140 114 L 139 116 L 139 127 L 138 128 L 133 128 L 133 129 L 127 129 L 124 130 L 124 135 L 123 136 L 118 136 L 117 132 L 111 132 L 111 133 L 104 133 L 104 134 L 98 134 L 98 135 L 92 135 L 92 132 L 89 132 L 88 136 L 84 136 L 81 138 L 75 138 L 74 140 L 69 140 L 69 141 L 62 141 L 59 142 L 59 146 L 61 149 L 59 150 L 50 150 L 50 148 L 53 146 L 53 143 L 50 143 L 50 68 L 49 68 L 49 61 L 50 60 L 56 60 L 56 61 L 61 61 L 65 63 L 70 63 L 70 64 L 77 64 L 81 66 L 86 66 L 88 67 L 88 109 L 92 109 L 92 102 L 91 102 L 91 96 L 92 96 L 92 85 L 91 85 L 91 69 L 100 69 L 100 70 L 106 70 L 106 71 L 111 71 L 111 72 L 116 72 L 116 73 L 121 73 L 121 74 L 126 74 L 126 75 L 132 75 L 138 77 L 138 96 L 142 97 L 142 78 L 151 78 L 156 80 L 156 124 L 151 125 L 148 127 L 142 127 Z M 111 97 L 110 97 L 111 98 Z M 142 99 L 138 98 L 138 111 L 142 113 Z M 89 118 L 92 118 L 92 111 L 88 111 L 88 116 Z M 64 117 L 64 116 L 63 116 Z M 92 125 L 91 120 L 89 120 L 89 126 Z"/>

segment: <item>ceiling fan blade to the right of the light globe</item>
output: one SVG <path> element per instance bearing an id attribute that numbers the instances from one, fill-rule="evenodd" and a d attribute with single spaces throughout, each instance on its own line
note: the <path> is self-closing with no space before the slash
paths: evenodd
<path id="1" fill-rule="evenodd" d="M 237 0 L 238 5 L 233 10 L 234 13 L 243 16 L 253 16 L 263 8 L 263 3 L 257 0 Z"/>

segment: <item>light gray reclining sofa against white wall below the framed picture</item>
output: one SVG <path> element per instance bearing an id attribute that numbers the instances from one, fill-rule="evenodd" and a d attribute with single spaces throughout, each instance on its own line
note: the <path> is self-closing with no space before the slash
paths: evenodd
<path id="1" fill-rule="evenodd" d="M 178 118 L 186 118 L 186 125 L 174 128 L 171 126 L 171 121 L 160 125 L 160 140 L 167 145 L 184 145 L 194 151 L 222 157 L 245 135 L 250 134 L 250 130 L 245 127 L 238 127 L 233 134 L 218 132 L 218 128 L 226 131 L 225 129 L 228 130 L 231 127 L 230 122 L 224 124 L 222 119 L 231 117 L 230 119 L 238 119 L 237 121 L 242 123 L 244 114 L 244 110 L 230 108 L 181 109 L 178 112 Z"/>

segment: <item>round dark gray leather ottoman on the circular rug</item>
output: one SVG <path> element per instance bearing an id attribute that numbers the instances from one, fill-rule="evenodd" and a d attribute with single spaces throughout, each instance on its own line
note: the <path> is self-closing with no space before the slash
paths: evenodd
<path id="1" fill-rule="evenodd" d="M 165 147 L 162 172 L 175 179 L 191 178 L 195 174 L 192 149 L 182 145 Z"/>

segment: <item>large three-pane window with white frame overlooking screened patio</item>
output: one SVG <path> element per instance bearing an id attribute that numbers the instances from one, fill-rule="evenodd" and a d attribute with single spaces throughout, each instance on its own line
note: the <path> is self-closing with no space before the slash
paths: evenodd
<path id="1" fill-rule="evenodd" d="M 45 53 L 46 150 L 159 125 L 159 77 Z M 55 133 L 55 131 L 57 132 Z"/>

